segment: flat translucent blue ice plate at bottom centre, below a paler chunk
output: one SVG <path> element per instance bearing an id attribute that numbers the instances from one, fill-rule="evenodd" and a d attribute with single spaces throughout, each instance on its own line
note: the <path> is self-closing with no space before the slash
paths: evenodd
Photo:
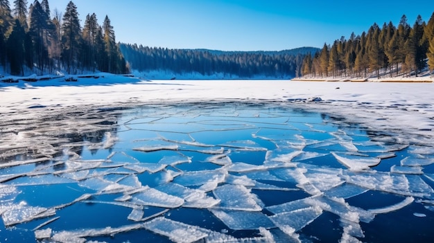
<path id="1" fill-rule="evenodd" d="M 234 211 L 210 209 L 218 219 L 227 227 L 233 230 L 253 230 L 263 228 L 272 228 L 275 225 L 271 220 L 260 212 Z"/>

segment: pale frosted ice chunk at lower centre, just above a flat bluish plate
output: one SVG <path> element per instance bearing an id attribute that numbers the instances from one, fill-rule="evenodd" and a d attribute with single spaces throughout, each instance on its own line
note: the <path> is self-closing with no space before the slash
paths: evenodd
<path id="1" fill-rule="evenodd" d="M 220 199 L 220 208 L 228 210 L 260 211 L 261 206 L 250 190 L 239 185 L 223 185 L 216 188 L 214 195 Z"/>

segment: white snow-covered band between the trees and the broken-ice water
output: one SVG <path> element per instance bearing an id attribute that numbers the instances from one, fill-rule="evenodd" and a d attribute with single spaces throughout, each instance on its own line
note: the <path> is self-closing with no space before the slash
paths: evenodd
<path id="1" fill-rule="evenodd" d="M 433 88 L 433 83 L 141 80 L 106 74 L 98 79 L 78 78 L 77 82 L 58 78 L 0 83 L 0 113 L 37 116 L 72 107 L 134 106 L 149 102 L 293 102 L 306 109 L 365 123 L 373 129 L 400 129 L 432 136 Z M 306 101 L 312 97 L 322 101 Z"/>

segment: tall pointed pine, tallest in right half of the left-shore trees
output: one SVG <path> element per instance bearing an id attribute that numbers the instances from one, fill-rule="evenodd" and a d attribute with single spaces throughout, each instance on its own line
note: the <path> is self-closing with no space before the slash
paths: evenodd
<path id="1" fill-rule="evenodd" d="M 62 59 L 67 67 L 67 72 L 71 73 L 72 69 L 77 67 L 81 34 L 77 7 L 72 1 L 69 1 L 62 21 Z"/>

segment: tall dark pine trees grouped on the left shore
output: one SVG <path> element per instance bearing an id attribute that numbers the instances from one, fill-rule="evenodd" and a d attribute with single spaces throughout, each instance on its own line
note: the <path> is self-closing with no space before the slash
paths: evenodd
<path id="1" fill-rule="evenodd" d="M 128 71 L 109 17 L 100 26 L 95 14 L 87 15 L 82 28 L 72 1 L 63 15 L 55 10 L 53 17 L 48 0 L 27 6 L 26 0 L 15 0 L 11 9 L 8 0 L 0 0 L 0 65 L 6 72 Z"/>

